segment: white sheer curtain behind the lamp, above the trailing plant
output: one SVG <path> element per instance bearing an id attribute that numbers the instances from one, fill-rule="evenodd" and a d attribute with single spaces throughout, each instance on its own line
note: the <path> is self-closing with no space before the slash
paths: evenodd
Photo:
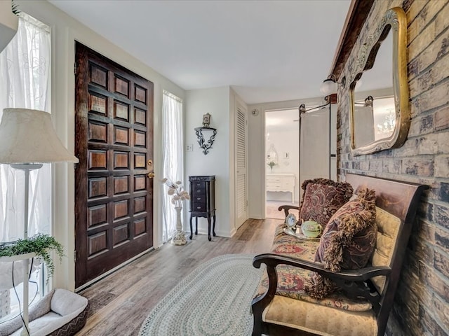
<path id="1" fill-rule="evenodd" d="M 21 13 L 18 33 L 0 53 L 0 118 L 7 107 L 49 110 L 50 29 Z M 23 237 L 24 174 L 0 165 L 0 241 Z M 51 165 L 30 174 L 29 236 L 51 229 Z"/>

